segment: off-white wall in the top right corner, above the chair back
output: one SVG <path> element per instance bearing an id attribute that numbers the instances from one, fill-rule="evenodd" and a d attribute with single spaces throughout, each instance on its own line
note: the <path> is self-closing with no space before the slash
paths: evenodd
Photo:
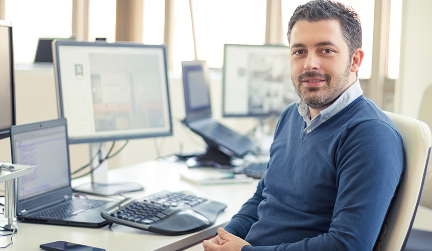
<path id="1" fill-rule="evenodd" d="M 432 1 L 405 0 L 402 8 L 400 75 L 396 111 L 418 118 L 423 93 L 432 84 Z M 432 116 L 432 107 L 430 107 Z M 431 126 L 431 125 L 429 125 Z"/>

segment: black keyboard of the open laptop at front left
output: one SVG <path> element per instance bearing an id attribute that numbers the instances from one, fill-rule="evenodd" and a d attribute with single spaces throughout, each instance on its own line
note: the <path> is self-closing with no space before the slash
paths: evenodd
<path id="1" fill-rule="evenodd" d="M 97 199 L 71 199 L 55 207 L 31 215 L 33 218 L 62 220 L 108 203 Z"/>

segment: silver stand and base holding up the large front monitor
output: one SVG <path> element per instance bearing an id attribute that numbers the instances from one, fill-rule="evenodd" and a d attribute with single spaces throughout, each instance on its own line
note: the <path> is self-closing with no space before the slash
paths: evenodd
<path id="1" fill-rule="evenodd" d="M 99 143 L 91 143 L 89 145 L 90 159 L 99 151 Z M 139 184 L 134 184 L 133 182 L 118 182 L 118 183 L 108 183 L 108 161 L 103 161 L 106 156 L 105 144 L 99 152 L 99 157 L 94 158 L 91 165 L 91 169 L 95 169 L 91 175 L 91 183 L 79 186 L 74 189 L 76 192 L 101 195 L 101 196 L 112 196 L 116 194 L 135 192 L 143 190 L 142 186 Z M 100 162 L 102 163 L 100 164 Z"/>

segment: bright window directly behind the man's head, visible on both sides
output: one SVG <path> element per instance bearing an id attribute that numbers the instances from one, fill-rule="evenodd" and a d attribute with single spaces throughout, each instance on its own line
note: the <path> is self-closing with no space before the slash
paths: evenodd
<path id="1" fill-rule="evenodd" d="M 283 19 L 283 30 L 286 33 L 288 30 L 288 22 L 290 17 L 293 15 L 294 10 L 301 4 L 309 2 L 308 0 L 282 0 L 282 19 Z M 374 21 L 374 0 L 345 0 L 339 1 L 352 8 L 360 16 L 360 22 L 362 24 L 363 31 L 363 42 L 362 49 L 365 51 L 365 57 L 362 62 L 362 66 L 358 70 L 358 78 L 368 79 L 371 76 L 372 71 L 372 42 L 373 42 L 373 21 Z M 284 38 L 285 44 L 288 45 L 288 39 Z"/>

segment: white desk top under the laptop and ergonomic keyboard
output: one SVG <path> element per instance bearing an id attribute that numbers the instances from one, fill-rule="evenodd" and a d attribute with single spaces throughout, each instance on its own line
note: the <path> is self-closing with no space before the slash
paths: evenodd
<path id="1" fill-rule="evenodd" d="M 18 232 L 13 237 L 13 244 L 6 250 L 40 250 L 40 244 L 58 240 L 102 247 L 107 250 L 164 251 L 177 250 L 201 242 L 203 239 L 213 236 L 219 226 L 225 225 L 231 219 L 231 216 L 237 213 L 242 204 L 255 192 L 258 180 L 248 184 L 200 186 L 180 178 L 179 172 L 186 168 L 183 164 L 171 161 L 150 161 L 127 168 L 111 170 L 108 179 L 110 182 L 134 181 L 145 187 L 144 191 L 128 194 L 130 196 L 139 197 L 160 190 L 186 190 L 198 196 L 226 203 L 228 208 L 219 215 L 215 224 L 207 229 L 188 235 L 164 236 L 118 224 L 113 224 L 111 229 L 108 226 L 100 229 L 90 229 L 86 227 L 17 222 Z M 76 185 L 76 183 L 88 180 L 79 180 L 73 182 L 73 184 Z M 0 220 L 0 225 L 7 222 L 6 218 L 2 220 Z M 6 233 L 10 232 L 2 234 Z M 0 246 L 5 246 L 9 242 L 10 236 L 0 237 Z"/>

